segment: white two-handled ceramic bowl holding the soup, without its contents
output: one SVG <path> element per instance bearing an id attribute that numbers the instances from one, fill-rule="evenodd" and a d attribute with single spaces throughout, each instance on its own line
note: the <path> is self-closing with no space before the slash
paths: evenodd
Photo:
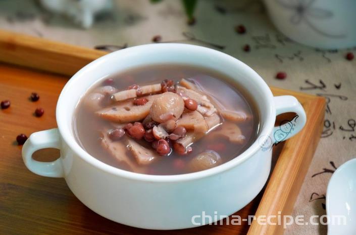
<path id="1" fill-rule="evenodd" d="M 261 128 L 256 141 L 225 164 L 182 175 L 138 174 L 93 158 L 79 146 L 73 133 L 73 114 L 79 99 L 98 79 L 154 64 L 207 67 L 226 74 L 232 82 L 247 89 L 260 113 Z M 274 127 L 276 115 L 285 112 L 294 112 L 298 118 L 281 128 Z M 273 97 L 262 78 L 241 61 L 209 48 L 174 43 L 135 46 L 86 65 L 63 88 L 56 118 L 58 129 L 33 133 L 24 144 L 22 156 L 26 167 L 41 176 L 65 178 L 75 196 L 102 216 L 150 229 L 199 226 L 209 222 L 209 217 L 201 217 L 202 213 L 213 216 L 214 222 L 214 215 L 219 218 L 244 207 L 267 181 L 274 137 L 278 142 L 285 140 L 306 122 L 306 114 L 294 97 Z M 58 160 L 41 163 L 32 159 L 34 151 L 48 147 L 61 150 Z"/>

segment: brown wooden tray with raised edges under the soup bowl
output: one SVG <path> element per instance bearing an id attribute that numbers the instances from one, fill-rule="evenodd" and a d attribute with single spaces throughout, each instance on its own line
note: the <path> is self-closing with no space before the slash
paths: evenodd
<path id="1" fill-rule="evenodd" d="M 0 31 L 0 100 L 11 101 L 9 109 L 0 110 L 0 233 L 281 234 L 282 226 L 260 225 L 257 221 L 250 226 L 244 221 L 241 225 L 206 225 L 171 231 L 125 226 L 84 206 L 64 179 L 37 176 L 26 169 L 16 136 L 56 127 L 57 99 L 70 75 L 104 54 L 106 52 Z M 274 95 L 295 96 L 306 110 L 308 121 L 295 137 L 274 147 L 274 169 L 268 184 L 253 201 L 235 213 L 242 218 L 292 212 L 322 130 L 323 98 L 271 89 Z M 31 92 L 40 95 L 38 102 L 29 101 Z M 37 107 L 45 110 L 41 118 L 33 115 Z M 54 149 L 34 154 L 39 161 L 53 161 L 58 156 L 59 151 Z"/>

